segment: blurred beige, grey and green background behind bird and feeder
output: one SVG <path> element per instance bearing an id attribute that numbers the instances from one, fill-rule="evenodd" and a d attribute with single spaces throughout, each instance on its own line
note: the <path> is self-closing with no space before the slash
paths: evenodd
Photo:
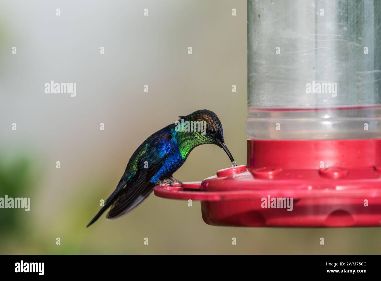
<path id="1" fill-rule="evenodd" d="M 0 209 L 0 254 L 381 254 L 381 228 L 209 226 L 200 202 L 153 194 L 86 228 L 134 150 L 179 115 L 215 111 L 245 164 L 246 12 L 245 0 L 0 0 L 0 197 L 31 205 Z M 76 97 L 45 94 L 51 80 L 77 83 Z M 229 165 L 203 145 L 174 176 L 201 181 Z"/>

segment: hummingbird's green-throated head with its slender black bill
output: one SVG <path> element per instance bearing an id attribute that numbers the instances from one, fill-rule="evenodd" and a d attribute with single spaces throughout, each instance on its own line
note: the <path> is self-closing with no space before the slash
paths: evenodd
<path id="1" fill-rule="evenodd" d="M 179 118 L 180 120 L 178 122 L 189 122 L 189 130 L 192 131 L 192 136 L 195 138 L 196 145 L 218 145 L 226 152 L 230 161 L 234 162 L 229 149 L 227 149 L 225 145 L 222 124 L 216 113 L 207 109 L 202 109 L 196 110 L 187 116 L 179 116 Z M 186 127 L 182 126 L 182 129 L 184 128 Z"/>

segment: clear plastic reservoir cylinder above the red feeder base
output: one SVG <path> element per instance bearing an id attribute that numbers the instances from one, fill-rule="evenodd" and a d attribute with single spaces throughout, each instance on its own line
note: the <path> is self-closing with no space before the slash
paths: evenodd
<path id="1" fill-rule="evenodd" d="M 249 0 L 247 136 L 381 137 L 380 66 L 380 1 Z"/>

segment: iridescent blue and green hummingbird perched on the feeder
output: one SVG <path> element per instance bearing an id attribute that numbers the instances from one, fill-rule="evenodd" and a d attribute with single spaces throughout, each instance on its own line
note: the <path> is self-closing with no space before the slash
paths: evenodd
<path id="1" fill-rule="evenodd" d="M 184 164 L 192 149 L 201 144 L 218 145 L 235 163 L 225 145 L 221 121 L 213 111 L 197 110 L 179 118 L 149 136 L 135 150 L 115 191 L 86 227 L 98 220 L 110 206 L 108 220 L 130 213 L 157 185 L 181 184 L 173 173 Z"/>

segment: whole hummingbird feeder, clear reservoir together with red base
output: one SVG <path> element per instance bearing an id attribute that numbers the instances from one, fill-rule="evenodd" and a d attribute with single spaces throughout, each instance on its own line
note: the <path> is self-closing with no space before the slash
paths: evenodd
<path id="1" fill-rule="evenodd" d="M 229 226 L 381 226 L 381 1 L 248 1 L 247 165 L 157 186 Z"/>

